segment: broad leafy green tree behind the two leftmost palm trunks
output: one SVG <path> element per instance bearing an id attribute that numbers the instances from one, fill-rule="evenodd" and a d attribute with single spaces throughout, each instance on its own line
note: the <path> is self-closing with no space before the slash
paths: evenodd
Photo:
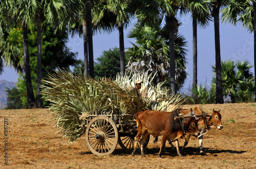
<path id="1" fill-rule="evenodd" d="M 65 30 L 54 33 L 53 28 L 46 24 L 42 26 L 42 78 L 52 73 L 57 68 L 67 68 L 75 65 L 77 53 L 73 53 L 66 46 L 68 34 Z M 31 25 L 28 29 L 29 34 L 29 54 L 30 54 L 30 69 L 32 78 L 32 88 L 34 95 L 36 94 L 36 80 L 37 80 L 37 46 L 36 46 L 36 26 Z M 23 55 L 23 34 L 22 29 L 12 29 L 7 36 L 7 42 L 10 46 L 18 46 L 20 56 Z M 24 65 L 22 57 L 18 57 L 21 65 Z M 18 73 L 17 89 L 22 93 L 20 99 L 22 100 L 22 107 L 26 108 L 27 103 L 27 89 L 25 74 Z M 44 101 L 44 105 L 46 101 Z"/>

